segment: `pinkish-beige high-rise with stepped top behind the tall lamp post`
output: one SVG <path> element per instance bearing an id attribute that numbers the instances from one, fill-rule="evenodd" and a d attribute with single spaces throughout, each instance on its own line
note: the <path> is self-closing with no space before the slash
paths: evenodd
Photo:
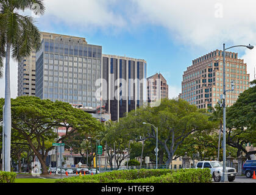
<path id="1" fill-rule="evenodd" d="M 214 107 L 223 94 L 223 57 L 216 50 L 192 61 L 192 65 L 183 73 L 182 93 L 185 99 L 197 108 Z M 243 59 L 238 53 L 226 52 L 226 90 L 235 83 L 235 90 L 226 92 L 226 105 L 233 105 L 240 93 L 249 88 L 249 74 Z"/>

